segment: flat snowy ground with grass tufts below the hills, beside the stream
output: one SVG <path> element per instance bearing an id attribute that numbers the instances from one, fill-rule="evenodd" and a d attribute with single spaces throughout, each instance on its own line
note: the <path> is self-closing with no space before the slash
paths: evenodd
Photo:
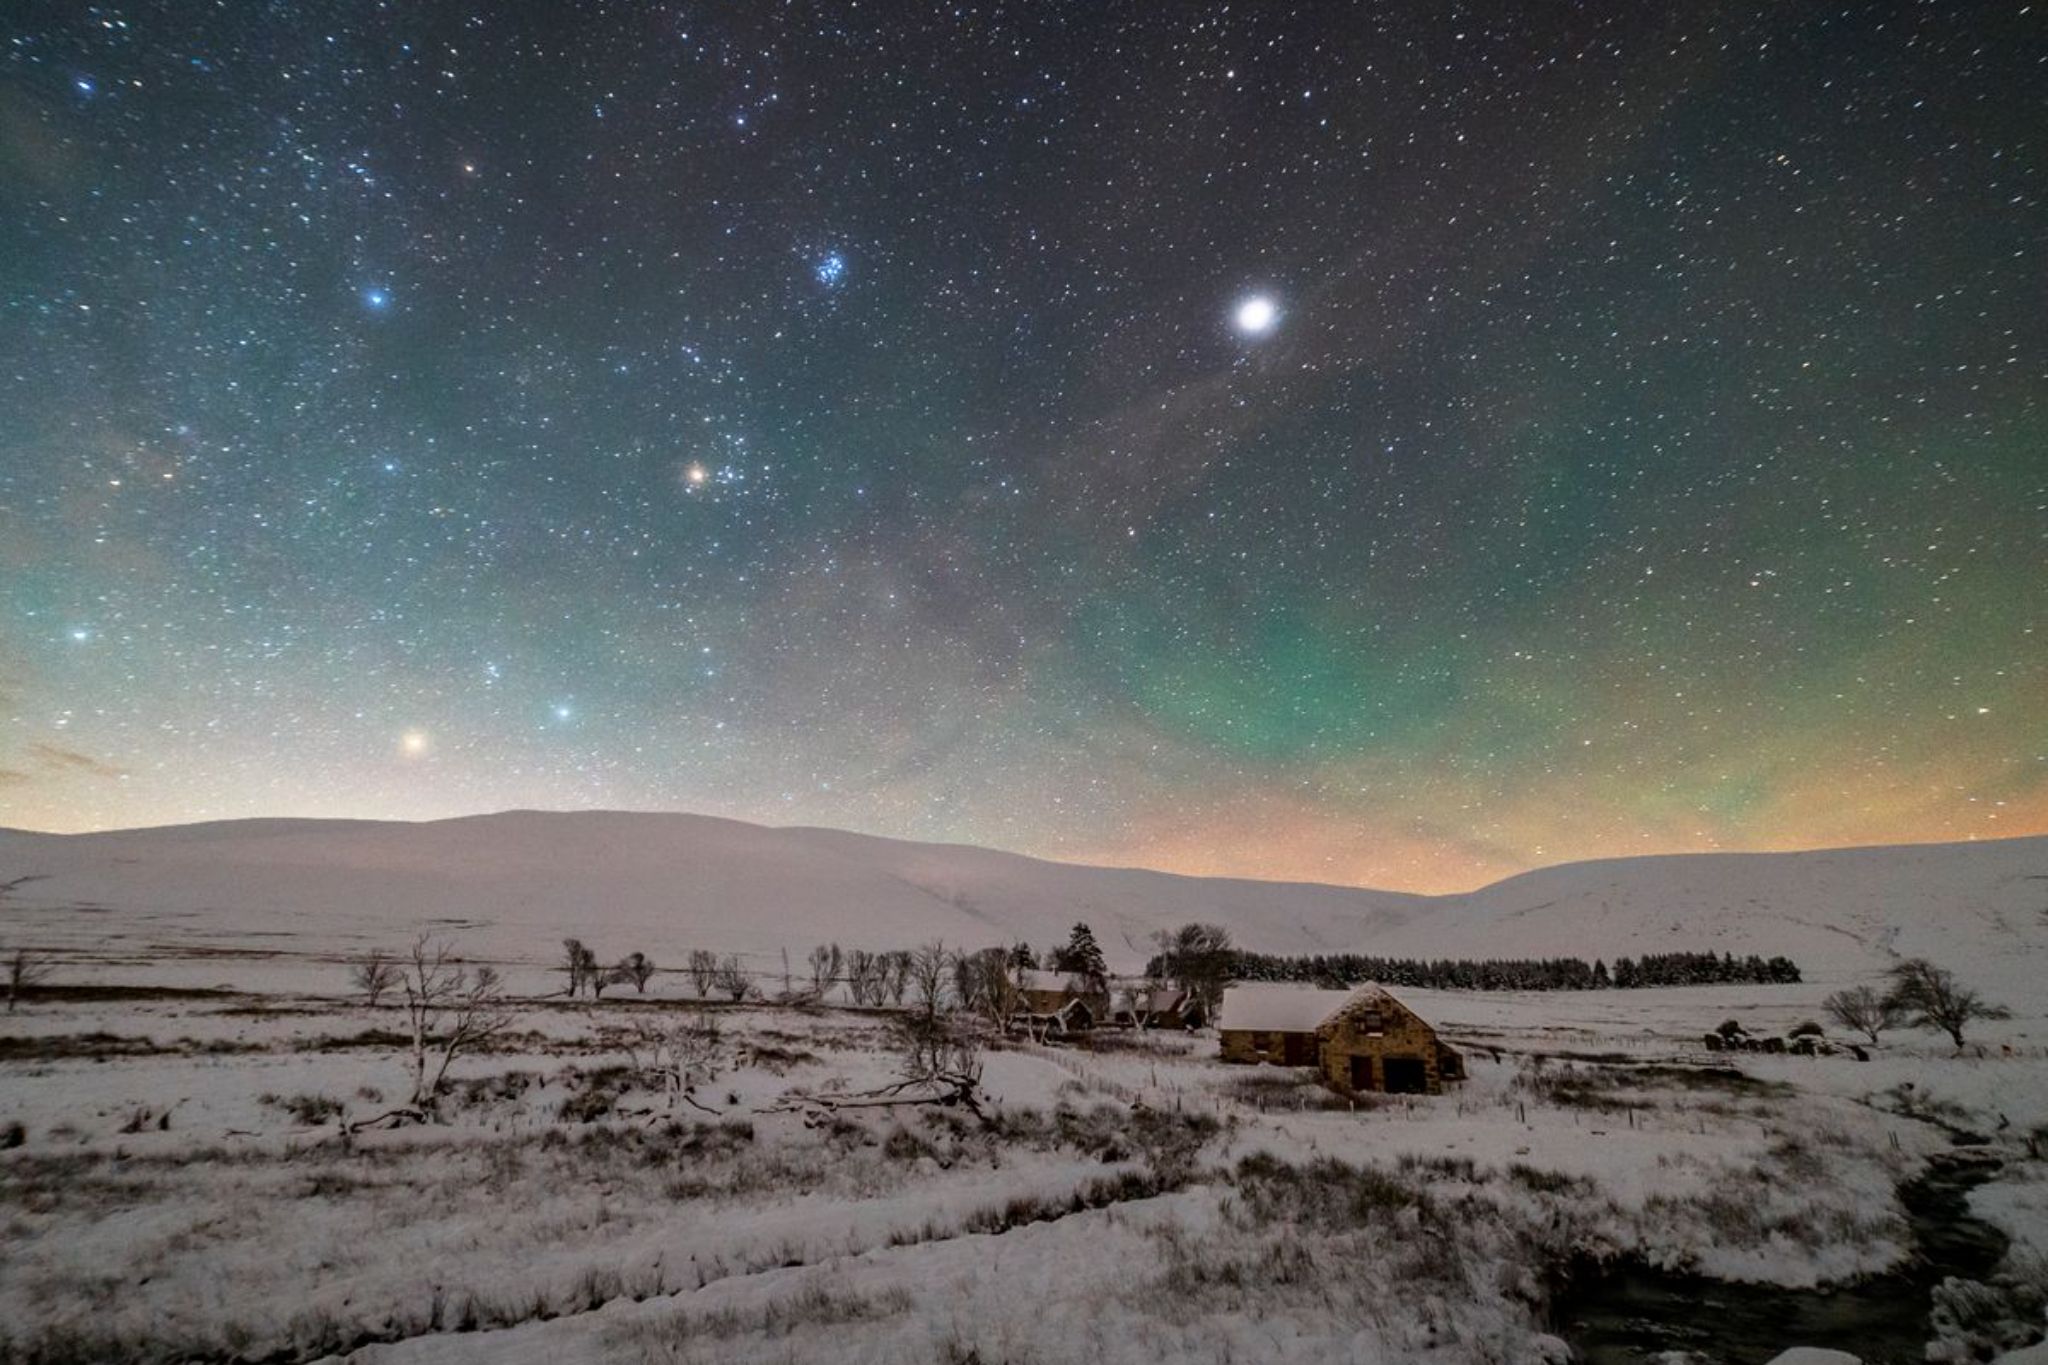
<path id="1" fill-rule="evenodd" d="M 1825 986 L 1411 990 L 1470 1058 L 1440 1099 L 1352 1109 L 1212 1036 L 1104 1036 L 989 1054 L 983 1126 L 793 1111 L 891 1076 L 889 1017 L 846 1007 L 713 1007 L 719 1074 L 668 1111 L 621 1040 L 707 1009 L 678 976 L 571 1007 L 516 972 L 535 999 L 457 1064 L 444 1121 L 344 1148 L 332 1111 L 406 1074 L 397 1011 L 338 966 L 94 980 L 74 964 L 0 1025 L 0 1359 L 1563 1359 L 1544 1310 L 1573 1254 L 1884 1269 L 1892 1187 L 1948 1128 L 2009 1158 L 1974 1207 L 2048 1246 L 2023 1001 L 1982 1056 L 1892 1033 L 1870 1062 L 1731 1064 L 1700 1033 L 1784 1031 Z"/>

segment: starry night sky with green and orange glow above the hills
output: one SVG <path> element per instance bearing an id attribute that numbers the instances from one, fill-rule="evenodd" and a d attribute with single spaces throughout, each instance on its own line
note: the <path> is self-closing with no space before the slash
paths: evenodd
<path id="1" fill-rule="evenodd" d="M 2040 4 L 0 12 L 0 825 L 2048 831 Z"/>

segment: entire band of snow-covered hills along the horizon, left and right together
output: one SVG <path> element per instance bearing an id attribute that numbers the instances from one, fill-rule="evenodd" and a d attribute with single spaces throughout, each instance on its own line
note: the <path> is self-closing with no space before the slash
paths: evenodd
<path id="1" fill-rule="evenodd" d="M 1223 923 L 1264 952 L 1430 958 L 1714 950 L 1808 976 L 1923 954 L 1987 988 L 2048 980 L 2048 837 L 1567 864 L 1456 896 L 1083 868 L 965 845 L 694 814 L 504 812 L 434 823 L 229 821 L 98 835 L 0 831 L 20 886 L 0 935 L 96 956 L 328 956 L 420 927 L 547 960 L 575 933 L 690 948 L 1044 948 L 1085 919 L 1135 966 L 1153 929 Z"/>

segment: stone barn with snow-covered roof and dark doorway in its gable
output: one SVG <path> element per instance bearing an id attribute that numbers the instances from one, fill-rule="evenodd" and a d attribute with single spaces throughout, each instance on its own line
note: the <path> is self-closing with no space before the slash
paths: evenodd
<path id="1" fill-rule="evenodd" d="M 1219 1033 L 1225 1062 L 1315 1066 L 1339 1095 L 1438 1095 L 1464 1078 L 1458 1052 L 1380 986 L 1231 986 Z"/>

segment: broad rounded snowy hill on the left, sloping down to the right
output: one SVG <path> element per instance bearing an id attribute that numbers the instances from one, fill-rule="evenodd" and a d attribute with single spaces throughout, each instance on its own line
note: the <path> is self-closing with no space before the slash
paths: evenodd
<path id="1" fill-rule="evenodd" d="M 0 880 L 39 874 L 23 913 L 88 907 L 72 931 L 156 941 L 293 935 L 348 952 L 418 925 L 506 956 L 563 935 L 674 962 L 688 948 L 799 958 L 813 943 L 1036 948 L 1085 919 L 1139 962 L 1153 929 L 1231 925 L 1266 952 L 1341 950 L 1423 896 L 1079 868 L 967 845 L 696 814 L 530 812 L 432 823 L 227 821 L 100 835 L 0 833 Z M 45 915 L 37 921 L 49 925 Z"/>

